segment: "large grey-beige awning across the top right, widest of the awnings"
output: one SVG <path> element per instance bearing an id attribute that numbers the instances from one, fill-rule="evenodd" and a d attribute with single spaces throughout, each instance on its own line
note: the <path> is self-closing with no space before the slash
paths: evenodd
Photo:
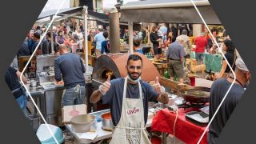
<path id="1" fill-rule="evenodd" d="M 194 0 L 207 24 L 222 24 L 210 3 Z M 120 7 L 122 22 L 203 23 L 190 0 L 150 0 L 127 2 Z"/>

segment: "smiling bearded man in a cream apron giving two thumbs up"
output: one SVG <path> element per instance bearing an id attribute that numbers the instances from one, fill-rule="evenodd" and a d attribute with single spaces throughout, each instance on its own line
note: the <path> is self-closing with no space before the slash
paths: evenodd
<path id="1" fill-rule="evenodd" d="M 90 97 L 90 102 L 110 104 L 114 123 L 114 134 L 110 143 L 150 143 L 145 125 L 148 116 L 148 102 L 168 103 L 168 95 L 160 86 L 158 77 L 154 86 L 141 80 L 142 58 L 131 54 L 126 64 L 127 77 L 110 81 L 107 78 Z"/>

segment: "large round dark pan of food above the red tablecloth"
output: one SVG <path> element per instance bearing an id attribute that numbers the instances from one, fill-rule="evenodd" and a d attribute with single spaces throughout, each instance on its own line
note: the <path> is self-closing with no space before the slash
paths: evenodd
<path id="1" fill-rule="evenodd" d="M 178 96 L 191 104 L 205 104 L 210 101 L 210 88 L 202 86 L 183 87 L 178 90 Z"/>

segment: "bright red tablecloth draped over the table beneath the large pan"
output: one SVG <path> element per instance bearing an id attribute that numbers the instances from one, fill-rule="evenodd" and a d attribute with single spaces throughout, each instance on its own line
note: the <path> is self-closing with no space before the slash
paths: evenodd
<path id="1" fill-rule="evenodd" d="M 180 108 L 178 110 L 178 119 L 176 122 L 175 131 L 174 120 L 176 118 L 176 113 L 168 109 L 159 110 L 158 113 L 154 115 L 151 130 L 161 131 L 168 134 L 174 134 L 175 132 L 174 136 L 176 138 L 188 144 L 195 144 L 201 138 L 206 127 L 197 126 L 194 123 L 186 120 L 186 112 L 192 110 L 198 111 L 197 108 L 188 108 L 186 110 Z M 207 132 L 200 143 L 207 143 Z"/>

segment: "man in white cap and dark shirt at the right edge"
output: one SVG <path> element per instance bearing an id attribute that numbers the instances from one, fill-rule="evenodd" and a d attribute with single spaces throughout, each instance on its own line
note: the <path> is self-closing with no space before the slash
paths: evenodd
<path id="1" fill-rule="evenodd" d="M 245 91 L 245 86 L 250 82 L 250 71 L 247 69 L 246 64 L 238 57 L 235 62 L 234 77 L 219 78 L 210 88 L 210 110 L 209 119 L 213 118 L 215 111 L 225 97 L 227 90 L 229 90 L 232 82 L 234 85 L 231 87 L 229 93 L 226 95 L 225 101 L 215 115 L 214 120 L 210 123 L 208 142 L 215 143 L 218 135 L 222 132 L 222 128 L 230 118 L 235 106 L 238 104 L 242 94 Z"/>

